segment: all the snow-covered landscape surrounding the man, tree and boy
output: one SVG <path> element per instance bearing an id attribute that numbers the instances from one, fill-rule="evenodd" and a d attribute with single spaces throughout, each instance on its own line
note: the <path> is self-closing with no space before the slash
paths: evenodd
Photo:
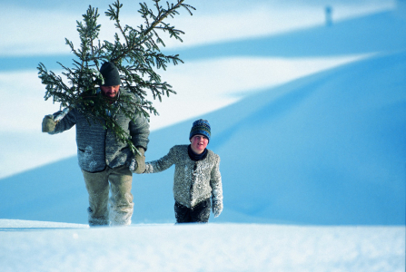
<path id="1" fill-rule="evenodd" d="M 185 60 L 164 73 L 178 94 L 157 104 L 146 156 L 209 120 L 223 213 L 174 225 L 171 169 L 134 176 L 121 228 L 87 225 L 74 130 L 40 129 L 58 105 L 35 67 L 69 62 L 64 37 L 96 3 L 111 2 L 0 11 L 2 271 L 405 271 L 404 1 L 193 2 L 174 22 L 184 43 L 168 44 Z"/>

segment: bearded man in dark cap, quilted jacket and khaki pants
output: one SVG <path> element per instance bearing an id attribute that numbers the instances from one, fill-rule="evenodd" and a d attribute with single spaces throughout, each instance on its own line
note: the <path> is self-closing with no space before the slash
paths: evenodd
<path id="1" fill-rule="evenodd" d="M 104 77 L 104 84 L 100 87 L 102 95 L 114 102 L 120 93 L 126 92 L 120 88 L 118 69 L 114 63 L 104 63 L 100 73 Z M 136 100 L 134 94 L 128 94 Z M 131 121 L 120 111 L 122 105 L 114 103 L 114 107 L 115 111 L 109 114 L 131 135 L 131 141 L 142 156 L 138 153 L 134 155 L 128 144 L 118 141 L 114 131 L 105 130 L 100 121 L 91 120 L 89 124 L 84 114 L 75 108 L 61 121 L 54 121 L 58 112 L 45 116 L 43 120 L 43 131 L 49 134 L 60 133 L 76 125 L 77 158 L 89 193 L 87 210 L 90 226 L 131 224 L 134 210 L 132 174 L 145 170 L 144 151 L 150 133 L 148 121 L 139 114 L 134 114 L 134 121 Z"/>

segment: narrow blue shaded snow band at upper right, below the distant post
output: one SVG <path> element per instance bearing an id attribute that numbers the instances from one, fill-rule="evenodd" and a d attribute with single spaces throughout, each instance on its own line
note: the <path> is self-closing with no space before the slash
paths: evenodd
<path id="1" fill-rule="evenodd" d="M 402 51 L 406 46 L 404 10 L 384 11 L 332 24 L 317 25 L 278 35 L 193 46 L 185 60 L 230 56 L 331 56 Z"/>

